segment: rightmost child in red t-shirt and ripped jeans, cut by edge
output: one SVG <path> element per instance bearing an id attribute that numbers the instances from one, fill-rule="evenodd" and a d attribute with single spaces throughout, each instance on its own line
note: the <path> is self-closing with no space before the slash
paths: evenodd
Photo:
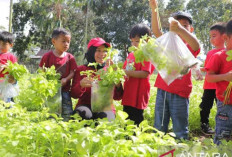
<path id="1" fill-rule="evenodd" d="M 221 139 L 229 139 L 232 131 L 232 93 L 228 102 L 225 100 L 225 91 L 232 81 L 232 62 L 227 61 L 228 51 L 232 50 L 232 19 L 226 25 L 226 49 L 213 55 L 206 65 L 206 81 L 216 82 L 217 114 L 214 143 L 220 144 Z M 231 54 L 231 53 L 230 53 Z"/>

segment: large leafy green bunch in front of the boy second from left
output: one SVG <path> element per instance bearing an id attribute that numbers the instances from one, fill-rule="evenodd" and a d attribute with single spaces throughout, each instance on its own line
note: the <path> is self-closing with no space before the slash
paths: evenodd
<path id="1" fill-rule="evenodd" d="M 60 88 L 60 75 L 56 73 L 55 67 L 39 69 L 37 73 L 21 76 L 18 81 L 20 92 L 15 102 L 28 111 L 41 111 L 45 102 L 54 97 Z M 53 108 L 54 109 L 54 108 Z"/>

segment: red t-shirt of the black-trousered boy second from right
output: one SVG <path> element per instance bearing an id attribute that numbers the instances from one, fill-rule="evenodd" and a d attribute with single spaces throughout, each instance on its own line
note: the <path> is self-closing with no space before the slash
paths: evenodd
<path id="1" fill-rule="evenodd" d="M 221 49 L 213 49 L 213 50 L 210 50 L 208 53 L 207 53 L 207 56 L 206 56 L 206 59 L 205 59 L 205 65 L 204 67 L 206 67 L 207 63 L 209 62 L 210 58 L 217 52 L 223 50 L 224 48 L 221 48 Z M 207 82 L 206 80 L 204 81 L 204 85 L 203 85 L 203 89 L 216 89 L 216 83 L 210 83 L 210 82 Z"/>

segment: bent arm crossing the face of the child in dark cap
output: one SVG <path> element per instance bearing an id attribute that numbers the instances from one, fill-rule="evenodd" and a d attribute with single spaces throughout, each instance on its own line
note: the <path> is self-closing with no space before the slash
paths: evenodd
<path id="1" fill-rule="evenodd" d="M 178 34 L 185 42 L 189 44 L 189 46 L 194 50 L 197 51 L 200 48 L 200 44 L 196 37 L 192 35 L 191 32 L 186 30 L 177 20 L 173 20 L 170 23 L 170 31 L 175 32 Z"/>

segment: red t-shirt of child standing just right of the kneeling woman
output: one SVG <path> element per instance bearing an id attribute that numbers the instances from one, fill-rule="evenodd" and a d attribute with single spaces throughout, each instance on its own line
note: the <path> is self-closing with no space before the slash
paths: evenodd
<path id="1" fill-rule="evenodd" d="M 149 75 L 147 78 L 133 78 L 126 77 L 124 82 L 124 92 L 122 96 L 122 105 L 132 106 L 137 109 L 145 109 L 148 105 L 150 96 L 150 75 L 155 70 L 155 67 L 151 62 L 135 63 L 135 57 L 133 53 L 130 53 L 123 65 L 125 69 L 130 63 L 134 63 L 135 71 L 147 71 Z"/>

